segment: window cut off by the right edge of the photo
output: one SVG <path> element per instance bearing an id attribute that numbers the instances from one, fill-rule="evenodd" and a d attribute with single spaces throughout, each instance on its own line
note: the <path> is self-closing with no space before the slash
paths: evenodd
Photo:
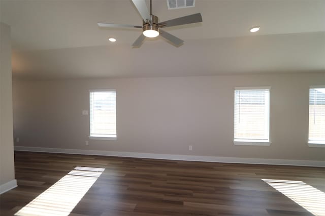
<path id="1" fill-rule="evenodd" d="M 325 147 L 325 87 L 309 89 L 308 143 L 322 144 Z"/>

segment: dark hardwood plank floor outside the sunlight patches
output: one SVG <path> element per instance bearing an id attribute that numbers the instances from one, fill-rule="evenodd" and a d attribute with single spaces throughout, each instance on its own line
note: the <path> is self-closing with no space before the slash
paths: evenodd
<path id="1" fill-rule="evenodd" d="M 105 171 L 74 216 L 313 215 L 262 179 L 325 192 L 325 168 L 15 152 L 19 186 L 0 195 L 0 215 L 14 215 L 76 166 Z"/>

